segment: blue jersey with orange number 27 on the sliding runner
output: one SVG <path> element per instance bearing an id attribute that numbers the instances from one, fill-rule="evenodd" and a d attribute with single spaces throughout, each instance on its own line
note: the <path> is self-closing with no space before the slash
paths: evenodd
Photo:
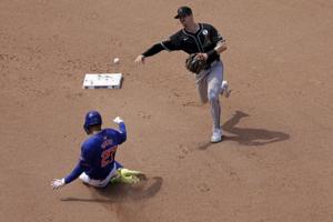
<path id="1" fill-rule="evenodd" d="M 125 124 L 119 124 L 119 131 L 104 129 L 87 139 L 81 147 L 79 163 L 64 179 L 65 183 L 75 180 L 85 172 L 93 180 L 103 180 L 114 168 L 118 145 L 127 140 Z"/>

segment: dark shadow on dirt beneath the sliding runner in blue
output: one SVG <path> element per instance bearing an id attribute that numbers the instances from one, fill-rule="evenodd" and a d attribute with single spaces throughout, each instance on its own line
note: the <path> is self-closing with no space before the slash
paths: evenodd
<path id="1" fill-rule="evenodd" d="M 92 199 L 65 198 L 64 202 L 95 202 L 103 204 L 121 203 L 128 201 L 143 201 L 154 196 L 161 189 L 163 179 L 154 176 L 152 179 L 143 179 L 139 184 L 110 184 L 107 188 L 91 190 Z"/>

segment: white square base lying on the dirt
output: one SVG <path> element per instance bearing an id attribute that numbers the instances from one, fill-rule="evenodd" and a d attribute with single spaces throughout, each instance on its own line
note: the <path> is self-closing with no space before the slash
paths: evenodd
<path id="1" fill-rule="evenodd" d="M 83 89 L 120 89 L 121 83 L 121 73 L 87 73 Z"/>

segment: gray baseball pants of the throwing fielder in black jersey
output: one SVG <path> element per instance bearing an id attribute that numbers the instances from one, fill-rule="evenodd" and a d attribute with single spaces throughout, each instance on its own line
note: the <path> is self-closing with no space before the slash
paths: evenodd
<path id="1" fill-rule="evenodd" d="M 223 81 L 223 63 L 215 61 L 211 68 L 202 70 L 195 77 L 196 89 L 199 91 L 200 100 L 202 103 L 210 102 L 211 114 L 213 118 L 213 128 L 220 129 L 221 105 L 219 95 Z"/>

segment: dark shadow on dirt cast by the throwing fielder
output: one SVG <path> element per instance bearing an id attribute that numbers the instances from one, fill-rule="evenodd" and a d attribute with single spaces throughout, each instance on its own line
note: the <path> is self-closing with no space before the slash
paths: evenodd
<path id="1" fill-rule="evenodd" d="M 236 127 L 236 124 L 241 121 L 241 119 L 246 117 L 250 115 L 242 111 L 236 111 L 235 114 L 222 125 L 223 132 L 229 132 L 233 134 L 233 135 L 223 135 L 223 141 L 235 141 L 243 145 L 259 147 L 259 145 L 281 142 L 290 139 L 289 134 L 280 131 Z M 206 143 L 199 144 L 196 148 L 199 150 L 206 150 L 211 145 L 213 144 L 206 142 Z"/>

